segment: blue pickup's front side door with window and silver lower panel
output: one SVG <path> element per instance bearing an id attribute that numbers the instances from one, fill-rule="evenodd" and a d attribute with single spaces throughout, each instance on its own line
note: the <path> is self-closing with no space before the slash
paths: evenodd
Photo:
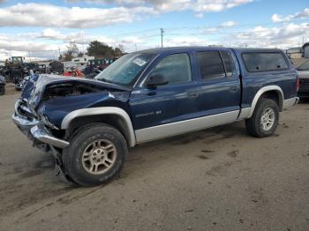
<path id="1" fill-rule="evenodd" d="M 180 130 L 170 130 L 167 124 L 182 126 L 183 121 L 196 114 L 198 86 L 192 81 L 193 73 L 189 54 L 164 56 L 148 76 L 161 75 L 169 83 L 139 86 L 132 92 L 130 106 L 138 143 L 177 134 Z"/>

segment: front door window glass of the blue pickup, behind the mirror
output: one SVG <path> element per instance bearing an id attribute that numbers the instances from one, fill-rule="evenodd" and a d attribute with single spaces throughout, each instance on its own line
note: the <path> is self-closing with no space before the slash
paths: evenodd
<path id="1" fill-rule="evenodd" d="M 164 57 L 151 75 L 161 75 L 169 81 L 169 85 L 190 82 L 191 63 L 187 54 L 175 54 Z"/>

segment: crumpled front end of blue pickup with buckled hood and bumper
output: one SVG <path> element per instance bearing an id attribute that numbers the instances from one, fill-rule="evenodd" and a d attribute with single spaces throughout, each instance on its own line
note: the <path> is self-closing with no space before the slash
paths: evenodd
<path id="1" fill-rule="evenodd" d="M 82 108 L 126 102 L 129 93 L 127 87 L 91 79 L 34 76 L 16 102 L 12 120 L 34 146 L 52 153 L 57 160 L 57 174 L 64 174 L 61 156 L 70 145 L 67 130 L 61 128 L 65 115 Z"/>

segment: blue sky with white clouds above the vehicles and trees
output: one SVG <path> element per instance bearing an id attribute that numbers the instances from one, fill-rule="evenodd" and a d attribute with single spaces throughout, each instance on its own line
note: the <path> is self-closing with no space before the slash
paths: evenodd
<path id="1" fill-rule="evenodd" d="M 0 60 L 53 59 L 74 42 L 291 48 L 309 41 L 308 0 L 0 0 Z"/>

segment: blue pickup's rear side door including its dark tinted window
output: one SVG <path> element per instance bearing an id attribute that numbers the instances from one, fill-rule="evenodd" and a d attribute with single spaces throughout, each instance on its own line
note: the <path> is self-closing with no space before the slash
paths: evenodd
<path id="1" fill-rule="evenodd" d="M 203 115 L 220 115 L 222 123 L 237 119 L 241 86 L 236 63 L 229 49 L 205 50 L 195 54 L 200 74 L 199 110 Z"/>

